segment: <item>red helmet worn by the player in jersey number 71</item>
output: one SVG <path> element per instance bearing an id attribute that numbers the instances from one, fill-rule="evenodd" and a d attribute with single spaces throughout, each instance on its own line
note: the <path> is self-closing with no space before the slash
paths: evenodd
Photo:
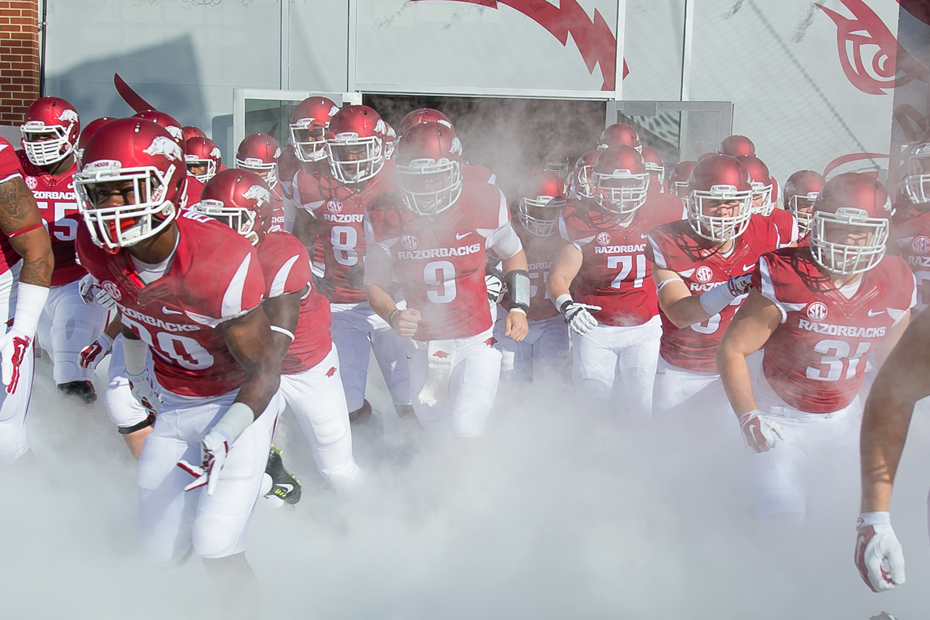
<path id="1" fill-rule="evenodd" d="M 639 151 L 630 146 L 611 146 L 597 156 L 592 173 L 594 199 L 613 213 L 635 213 L 646 202 L 649 173 Z"/>

